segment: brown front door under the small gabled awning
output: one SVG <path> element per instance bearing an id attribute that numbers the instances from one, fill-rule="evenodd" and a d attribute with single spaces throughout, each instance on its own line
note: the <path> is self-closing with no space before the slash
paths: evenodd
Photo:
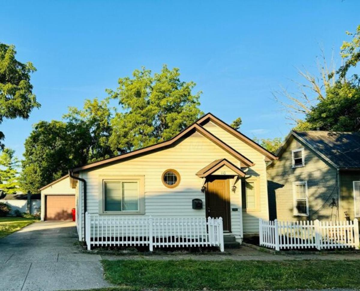
<path id="1" fill-rule="evenodd" d="M 213 176 L 206 184 L 206 218 L 222 217 L 224 231 L 231 231 L 229 179 Z"/>

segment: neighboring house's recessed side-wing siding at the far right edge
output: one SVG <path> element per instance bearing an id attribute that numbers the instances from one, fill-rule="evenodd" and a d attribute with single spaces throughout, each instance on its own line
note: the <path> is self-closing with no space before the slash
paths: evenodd
<path id="1" fill-rule="evenodd" d="M 341 213 L 340 217 L 345 220 L 345 212 L 353 220 L 354 217 L 354 188 L 353 181 L 360 181 L 360 171 L 340 171 L 341 185 Z"/>

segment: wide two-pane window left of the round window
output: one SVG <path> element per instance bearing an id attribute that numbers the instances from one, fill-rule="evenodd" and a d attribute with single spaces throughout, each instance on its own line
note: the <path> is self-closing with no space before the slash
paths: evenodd
<path id="1" fill-rule="evenodd" d="M 100 182 L 102 187 L 100 214 L 140 214 L 144 212 L 143 178 L 102 178 Z"/>

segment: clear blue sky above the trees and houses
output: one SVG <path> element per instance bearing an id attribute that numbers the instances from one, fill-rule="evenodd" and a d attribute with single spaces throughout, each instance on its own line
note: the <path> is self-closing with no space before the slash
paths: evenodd
<path id="1" fill-rule="evenodd" d="M 40 120 L 107 96 L 141 66 L 180 68 L 203 91 L 201 109 L 226 122 L 242 117 L 249 137 L 285 136 L 291 124 L 272 91 L 295 90 L 297 67 L 316 72 L 360 24 L 360 2 L 327 1 L 4 1 L 0 41 L 31 61 L 41 103 L 27 121 L 1 124 L 6 146 L 23 143 Z"/>

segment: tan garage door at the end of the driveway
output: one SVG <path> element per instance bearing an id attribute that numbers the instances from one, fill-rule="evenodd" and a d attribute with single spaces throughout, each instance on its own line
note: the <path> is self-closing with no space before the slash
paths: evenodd
<path id="1" fill-rule="evenodd" d="M 72 220 L 75 195 L 46 195 L 45 220 Z"/>

